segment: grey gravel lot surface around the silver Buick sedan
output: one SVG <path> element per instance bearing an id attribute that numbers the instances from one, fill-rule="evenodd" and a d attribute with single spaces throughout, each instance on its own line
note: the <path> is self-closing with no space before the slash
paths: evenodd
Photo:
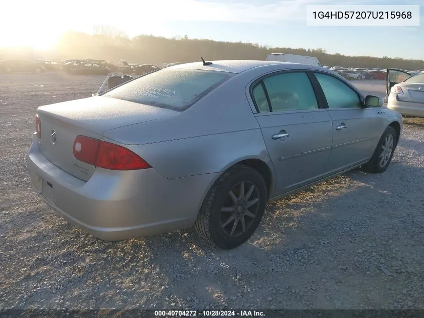
<path id="1" fill-rule="evenodd" d="M 0 75 L 0 308 L 424 308 L 423 120 L 404 120 L 386 172 L 268 204 L 235 250 L 190 230 L 109 243 L 38 198 L 26 166 L 37 107 L 103 79 Z M 358 85 L 384 96 L 379 81 Z"/>

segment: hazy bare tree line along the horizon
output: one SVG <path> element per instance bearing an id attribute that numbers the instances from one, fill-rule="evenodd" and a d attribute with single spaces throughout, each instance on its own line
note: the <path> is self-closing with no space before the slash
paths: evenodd
<path id="1" fill-rule="evenodd" d="M 272 48 L 257 43 L 219 42 L 208 39 L 189 39 L 187 36 L 169 39 L 139 35 L 130 39 L 123 32 L 103 25 L 94 26 L 93 31 L 93 35 L 81 32 L 65 33 L 49 52 L 40 53 L 31 49 L 26 51 L 20 49 L 19 54 L 21 56 L 23 54 L 37 55 L 37 58 L 57 60 L 94 58 L 117 62 L 120 59 L 126 59 L 135 63 L 157 64 L 194 62 L 200 61 L 200 57 L 207 60 L 264 60 L 268 53 L 289 53 L 314 56 L 322 65 L 328 66 L 424 69 L 422 60 L 328 54 L 322 48 Z M 2 55 L 3 58 L 6 58 L 5 52 L 2 54 L 0 51 L 0 59 L 2 59 Z"/>

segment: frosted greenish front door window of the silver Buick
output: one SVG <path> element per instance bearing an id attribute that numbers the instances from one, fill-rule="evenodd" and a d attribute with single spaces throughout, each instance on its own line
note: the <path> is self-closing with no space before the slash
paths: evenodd
<path id="1" fill-rule="evenodd" d="M 362 102 L 358 94 L 341 80 L 322 73 L 315 73 L 320 83 L 328 108 L 357 108 Z"/>

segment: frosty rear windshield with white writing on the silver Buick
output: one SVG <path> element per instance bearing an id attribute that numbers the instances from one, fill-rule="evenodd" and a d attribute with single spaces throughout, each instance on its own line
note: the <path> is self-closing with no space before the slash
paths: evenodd
<path id="1" fill-rule="evenodd" d="M 161 69 L 131 80 L 103 96 L 184 111 L 232 76 L 231 73 Z"/>

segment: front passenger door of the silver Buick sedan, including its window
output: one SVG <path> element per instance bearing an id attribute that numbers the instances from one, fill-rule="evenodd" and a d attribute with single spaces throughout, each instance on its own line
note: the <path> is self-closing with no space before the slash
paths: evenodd
<path id="1" fill-rule="evenodd" d="M 367 162 L 374 153 L 382 120 L 364 106 L 361 95 L 350 85 L 327 73 L 315 72 L 328 114 L 333 142 L 325 176 Z"/>

